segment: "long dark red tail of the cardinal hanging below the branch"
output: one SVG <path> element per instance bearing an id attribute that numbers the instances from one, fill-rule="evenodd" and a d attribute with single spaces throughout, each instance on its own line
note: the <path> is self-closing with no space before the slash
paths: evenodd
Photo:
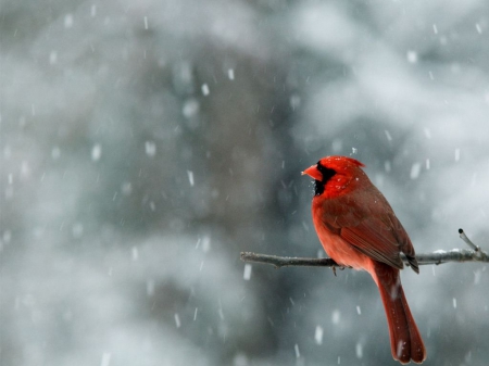
<path id="1" fill-rule="evenodd" d="M 399 269 L 376 263 L 375 275 L 377 278 L 374 279 L 386 310 L 392 357 L 401 364 L 408 364 L 410 361 L 423 363 L 426 358 L 425 344 L 408 306 Z"/>

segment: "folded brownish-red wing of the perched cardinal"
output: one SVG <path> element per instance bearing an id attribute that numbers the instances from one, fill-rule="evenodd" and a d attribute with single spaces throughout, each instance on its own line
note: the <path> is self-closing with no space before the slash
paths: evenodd
<path id="1" fill-rule="evenodd" d="M 402 268 L 402 251 L 415 272 L 418 266 L 411 240 L 384 195 L 374 187 L 368 194 L 344 194 L 323 202 L 323 223 L 375 261 Z"/>

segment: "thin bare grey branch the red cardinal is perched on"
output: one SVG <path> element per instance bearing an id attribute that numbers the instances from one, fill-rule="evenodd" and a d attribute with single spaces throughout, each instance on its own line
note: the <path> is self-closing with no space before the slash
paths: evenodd
<path id="1" fill-rule="evenodd" d="M 475 245 L 459 229 L 460 237 L 474 250 L 467 249 L 452 249 L 451 251 L 438 250 L 432 253 L 416 254 L 418 265 L 427 264 L 442 264 L 449 262 L 486 262 L 489 263 L 489 255 L 481 251 L 479 247 Z M 401 258 L 405 265 L 409 266 L 408 258 L 401 254 Z M 290 266 L 310 266 L 310 267 L 342 267 L 331 258 L 306 258 L 294 256 L 277 256 L 268 254 L 258 254 L 252 252 L 241 252 L 241 261 L 271 264 L 275 268 L 290 267 Z"/>

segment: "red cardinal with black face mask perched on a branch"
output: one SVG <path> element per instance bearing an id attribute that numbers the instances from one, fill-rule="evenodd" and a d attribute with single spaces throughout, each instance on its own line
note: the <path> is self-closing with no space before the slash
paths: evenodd
<path id="1" fill-rule="evenodd" d="M 403 268 L 401 252 L 411 268 L 419 273 L 414 248 L 392 207 L 362 166 L 351 157 L 326 156 L 302 172 L 314 178 L 314 227 L 335 262 L 364 269 L 374 278 L 386 311 L 392 357 L 401 364 L 421 364 L 426 350 L 399 274 Z"/>

